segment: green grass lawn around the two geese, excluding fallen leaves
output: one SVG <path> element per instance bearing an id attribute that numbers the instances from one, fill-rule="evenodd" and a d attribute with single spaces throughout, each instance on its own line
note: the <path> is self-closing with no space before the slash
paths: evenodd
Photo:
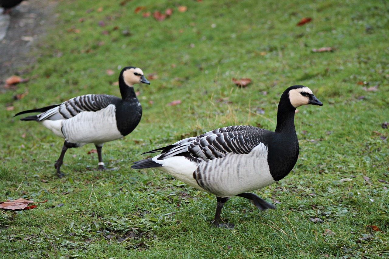
<path id="1" fill-rule="evenodd" d="M 378 179 L 389 180 L 389 144 L 382 139 L 388 129 L 380 126 L 389 121 L 389 5 L 156 2 L 60 1 L 53 28 L 33 53 L 38 62 L 23 75 L 30 80 L 0 95 L 0 200 L 48 200 L 32 210 L 2 211 L 0 257 L 387 257 L 389 186 Z M 135 14 L 140 5 L 146 9 Z M 165 21 L 141 14 L 167 8 L 173 14 Z M 312 22 L 296 26 L 302 17 Z M 312 52 L 320 47 L 335 51 Z M 103 147 L 106 165 L 117 170 L 96 171 L 96 154 L 87 154 L 94 146 L 86 145 L 68 150 L 66 177 L 58 179 L 53 164 L 63 140 L 12 116 L 81 94 L 119 95 L 112 83 L 126 65 L 157 78 L 136 86 L 144 115 L 135 131 Z M 250 77 L 252 84 L 237 88 L 231 77 Z M 365 91 L 358 84 L 365 81 L 377 91 Z M 324 105 L 298 109 L 296 166 L 256 192 L 277 210 L 231 198 L 222 217 L 236 227 L 217 229 L 209 224 L 214 196 L 158 170 L 130 168 L 144 151 L 220 126 L 273 130 L 280 94 L 294 84 L 310 87 Z M 23 99 L 12 98 L 25 91 Z M 182 103 L 166 106 L 173 100 Z M 310 221 L 315 217 L 323 222 Z"/>

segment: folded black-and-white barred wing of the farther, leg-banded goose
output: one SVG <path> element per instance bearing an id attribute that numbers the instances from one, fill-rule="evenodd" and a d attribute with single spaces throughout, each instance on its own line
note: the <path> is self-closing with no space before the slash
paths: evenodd
<path id="1" fill-rule="evenodd" d="M 84 111 L 98 111 L 106 108 L 112 103 L 120 101 L 120 98 L 107 94 L 86 94 L 74 97 L 70 100 L 64 101 L 59 105 L 51 105 L 36 110 L 26 110 L 19 112 L 17 115 L 30 113 L 30 112 L 42 112 L 41 114 L 30 116 L 35 121 L 44 121 L 46 119 L 56 121 L 69 119 Z M 27 117 L 29 118 L 29 117 Z"/>

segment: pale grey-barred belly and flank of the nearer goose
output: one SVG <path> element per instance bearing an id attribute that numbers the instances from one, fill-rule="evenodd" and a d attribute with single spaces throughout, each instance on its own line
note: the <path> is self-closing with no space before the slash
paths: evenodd
<path id="1" fill-rule="evenodd" d="M 268 149 L 259 144 L 249 154 L 227 154 L 223 158 L 203 161 L 196 179 L 203 189 L 220 197 L 254 191 L 276 182 L 270 174 Z"/>

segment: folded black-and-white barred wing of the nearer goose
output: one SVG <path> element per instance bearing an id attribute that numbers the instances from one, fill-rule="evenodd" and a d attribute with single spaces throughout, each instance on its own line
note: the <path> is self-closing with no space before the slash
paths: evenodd
<path id="1" fill-rule="evenodd" d="M 266 145 L 264 138 L 266 133 L 270 131 L 253 126 L 228 126 L 214 129 L 197 137 L 185 138 L 144 154 L 162 152 L 158 160 L 185 156 L 196 162 L 209 161 L 223 158 L 228 153 L 248 154 L 260 143 Z"/>

